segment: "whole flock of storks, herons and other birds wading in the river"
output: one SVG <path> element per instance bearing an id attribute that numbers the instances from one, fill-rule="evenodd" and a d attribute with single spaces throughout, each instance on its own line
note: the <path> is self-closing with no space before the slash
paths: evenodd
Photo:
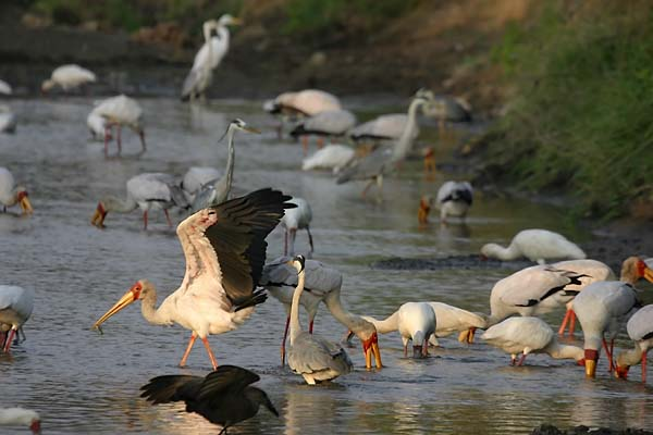
<path id="1" fill-rule="evenodd" d="M 184 80 L 182 98 L 202 98 L 229 45 L 226 26 L 239 24 L 230 15 L 204 24 L 205 45 L 198 52 Z M 77 65 L 64 65 L 52 73 L 42 85 L 44 90 L 59 86 L 64 90 L 95 82 L 90 71 Z M 0 82 L 0 92 L 11 88 Z M 463 104 L 435 98 L 420 89 L 406 114 L 387 114 L 356 126 L 356 116 L 344 110 L 338 99 L 328 92 L 307 89 L 284 92 L 264 103 L 264 110 L 279 114 L 279 132 L 292 123 L 292 136 L 303 137 L 305 150 L 308 137 L 337 138 L 348 136 L 354 142 L 371 144 L 365 151 L 344 145 L 323 146 L 305 159 L 303 169 L 329 169 L 337 174 L 337 183 L 353 179 L 367 181 L 362 192 L 374 184 L 382 186 L 383 177 L 406 159 L 419 134 L 418 112 L 456 112 L 461 117 L 469 113 Z M 454 109 L 452 109 L 454 108 Z M 463 108 L 463 109 L 461 109 Z M 108 145 L 115 138 L 121 152 L 121 128 L 130 127 L 140 136 L 141 152 L 146 151 L 143 110 L 138 103 L 118 96 L 97 104 L 88 115 L 88 126 Z M 14 120 L 15 127 L 15 120 Z M 429 346 L 439 346 L 439 339 L 458 334 L 463 343 L 472 344 L 477 330 L 484 330 L 482 338 L 510 355 L 510 363 L 521 365 L 529 353 L 547 353 L 552 358 L 574 359 L 584 365 L 588 376 L 594 376 L 601 348 L 605 350 L 608 366 L 617 377 L 625 378 L 628 369 L 642 364 L 645 381 L 646 352 L 653 346 L 653 306 L 641 307 L 634 289 L 640 278 L 653 282 L 653 260 L 631 257 L 624 261 L 619 279 L 606 264 L 586 258 L 586 253 L 564 236 L 545 229 L 526 229 L 515 236 L 508 247 L 489 244 L 482 247 L 486 258 L 514 260 L 528 258 L 539 264 L 520 270 L 498 281 L 490 294 L 490 313 L 477 313 L 441 301 L 409 301 L 386 319 L 378 320 L 348 311 L 342 300 L 343 275 L 335 269 L 304 256 L 295 256 L 295 236 L 306 229 L 310 253 L 313 240 L 310 233 L 311 209 L 303 198 L 292 198 L 272 188 L 233 197 L 232 179 L 237 132 L 259 133 L 243 120 L 230 123 L 227 162 L 224 173 L 211 166 L 194 166 L 180 179 L 164 173 L 144 173 L 126 183 L 126 197 L 104 197 L 98 202 L 91 223 L 102 227 L 107 214 L 143 211 L 147 229 L 148 212 L 162 210 L 168 223 L 168 211 L 186 210 L 188 216 L 176 227 L 185 256 L 185 275 L 180 287 L 157 307 L 157 290 L 147 279 L 136 282 L 115 304 L 94 324 L 101 325 L 128 304 L 139 300 L 143 316 L 151 324 L 178 324 L 192 332 L 180 365 L 199 337 L 213 371 L 206 377 L 190 375 L 158 376 L 145 385 L 143 397 L 152 403 L 184 401 L 186 411 L 197 412 L 223 426 L 232 425 L 258 412 L 260 406 L 279 415 L 267 394 L 251 386 L 259 376 L 234 365 L 219 365 L 209 344 L 209 335 L 238 328 L 254 313 L 256 306 L 271 295 L 283 303 L 287 319 L 281 344 L 281 363 L 288 364 L 307 384 L 333 381 L 353 370 L 353 362 L 340 343 L 313 334 L 313 320 L 319 306 L 348 331 L 347 339 L 357 336 L 362 346 L 366 369 L 383 368 L 378 334 L 398 332 L 404 355 L 412 345 L 412 357 L 429 355 Z M 432 165 L 432 153 L 426 154 L 426 167 Z M 428 222 L 431 207 L 440 209 L 441 222 L 465 220 L 472 204 L 473 189 L 468 182 L 444 183 L 435 198 L 424 196 L 418 209 L 420 223 Z M 11 172 L 0 167 L 0 203 L 3 210 L 19 204 L 23 213 L 32 213 L 27 190 L 16 186 Z M 284 256 L 266 263 L 266 237 L 279 224 L 285 228 Z M 554 260 L 565 260 L 552 262 Z M 0 348 L 10 353 L 20 341 L 25 322 L 34 306 L 34 291 L 28 288 L 0 285 Z M 299 307 L 308 313 L 308 328 L 299 321 Z M 558 343 L 551 326 L 538 318 L 558 307 L 566 307 L 563 335 L 569 325 L 574 334 L 576 320 L 584 336 L 579 348 Z M 614 338 L 621 326 L 634 343 L 630 350 L 615 356 Z M 289 335 L 289 346 L 286 340 Z M 23 334 L 24 336 L 24 334 Z M 0 409 L 0 424 L 25 424 L 34 433 L 40 430 L 40 420 L 34 411 Z"/>

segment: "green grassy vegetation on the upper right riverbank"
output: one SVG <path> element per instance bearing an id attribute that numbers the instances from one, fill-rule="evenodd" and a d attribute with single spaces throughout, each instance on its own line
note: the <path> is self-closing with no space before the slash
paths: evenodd
<path id="1" fill-rule="evenodd" d="M 493 52 L 517 97 L 488 162 L 522 188 L 576 192 L 579 214 L 614 217 L 653 201 L 653 5 L 559 4 L 510 26 Z"/>

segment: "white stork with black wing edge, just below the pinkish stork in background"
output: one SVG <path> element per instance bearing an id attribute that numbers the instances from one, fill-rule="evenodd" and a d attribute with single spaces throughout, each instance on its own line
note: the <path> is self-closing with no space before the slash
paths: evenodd
<path id="1" fill-rule="evenodd" d="M 356 124 L 356 116 L 348 110 L 326 110 L 305 117 L 291 130 L 292 137 L 301 137 L 304 156 L 308 153 L 308 136 L 318 136 L 318 147 L 322 148 L 323 137 L 342 137 Z"/>

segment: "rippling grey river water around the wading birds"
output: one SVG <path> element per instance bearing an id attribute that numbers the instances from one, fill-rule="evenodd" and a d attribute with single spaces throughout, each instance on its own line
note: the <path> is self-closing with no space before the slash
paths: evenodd
<path id="1" fill-rule="evenodd" d="M 148 151 L 136 157 L 138 138 L 125 130 L 120 159 L 104 159 L 101 144 L 88 140 L 90 99 L 9 102 L 20 125 L 16 135 L 0 136 L 0 165 L 29 187 L 35 214 L 0 214 L 0 276 L 2 283 L 34 288 L 36 302 L 25 326 L 27 340 L 11 358 L 0 357 L 0 405 L 38 410 L 47 434 L 219 432 L 202 418 L 183 412 L 183 405 L 152 407 L 139 398 L 139 387 L 152 376 L 209 372 L 201 345 L 192 352 L 187 369 L 177 368 L 188 332 L 150 326 L 138 307 L 112 318 L 104 335 L 90 331 L 136 279 L 152 281 L 160 299 L 178 286 L 184 259 L 174 231 L 156 213 L 148 232 L 141 231 L 137 212 L 110 213 L 104 231 L 89 220 L 101 196 L 123 196 L 125 182 L 138 173 L 181 175 L 192 165 L 223 167 L 226 146 L 217 139 L 233 117 L 263 130 L 261 136 L 236 138 L 236 190 L 273 186 L 310 201 L 315 258 L 344 273 L 343 296 L 355 312 L 384 316 L 410 300 L 440 300 L 486 312 L 492 285 L 512 272 L 380 271 L 369 266 L 375 260 L 473 253 L 526 227 L 560 231 L 581 243 L 588 237 L 550 206 L 483 195 L 466 227 L 419 228 L 419 196 L 434 195 L 445 175 L 424 181 L 420 163 L 408 162 L 386 179 L 382 202 L 361 201 L 361 184 L 336 186 L 330 174 L 300 172 L 300 146 L 276 139 L 274 121 L 259 110 L 259 102 L 227 101 L 192 112 L 174 100 L 144 100 Z M 427 142 L 438 137 L 424 133 Z M 275 229 L 269 241 L 268 258 L 273 259 L 282 253 L 282 231 Z M 300 233 L 297 250 L 307 248 Z M 560 314 L 547 320 L 557 323 Z M 639 369 L 632 371 L 633 381 L 618 382 L 606 372 L 604 360 L 595 381 L 587 381 L 572 361 L 543 356 L 529 357 L 527 366 L 510 368 L 503 352 L 483 343 L 464 346 L 455 337 L 442 339 L 443 348 L 430 358 L 412 360 L 403 358 L 397 334 L 382 336 L 386 366 L 380 372 L 365 371 L 356 344 L 349 349 L 356 364 L 352 374 L 331 385 L 307 386 L 280 368 L 283 324 L 283 308 L 270 299 L 239 330 L 211 337 L 219 363 L 259 373 L 260 386 L 282 415 L 276 419 L 261 410 L 230 432 L 529 433 L 543 422 L 653 427 L 652 389 L 639 383 Z M 336 340 L 344 330 L 322 310 L 316 332 Z M 623 338 L 619 345 L 628 341 Z"/>

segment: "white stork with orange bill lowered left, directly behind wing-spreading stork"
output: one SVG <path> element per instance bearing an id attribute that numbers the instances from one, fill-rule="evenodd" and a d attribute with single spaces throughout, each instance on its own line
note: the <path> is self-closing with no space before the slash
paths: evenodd
<path id="1" fill-rule="evenodd" d="M 130 178 L 126 186 L 127 196 L 124 199 L 114 196 L 100 199 L 90 220 L 93 225 L 98 228 L 103 227 L 104 217 L 110 211 L 130 213 L 138 208 L 143 211 L 144 229 L 147 229 L 150 210 L 163 210 L 168 225 L 172 227 L 168 209 L 174 206 L 181 208 L 188 206 L 183 190 L 176 185 L 175 177 L 170 174 L 147 172 Z"/>

